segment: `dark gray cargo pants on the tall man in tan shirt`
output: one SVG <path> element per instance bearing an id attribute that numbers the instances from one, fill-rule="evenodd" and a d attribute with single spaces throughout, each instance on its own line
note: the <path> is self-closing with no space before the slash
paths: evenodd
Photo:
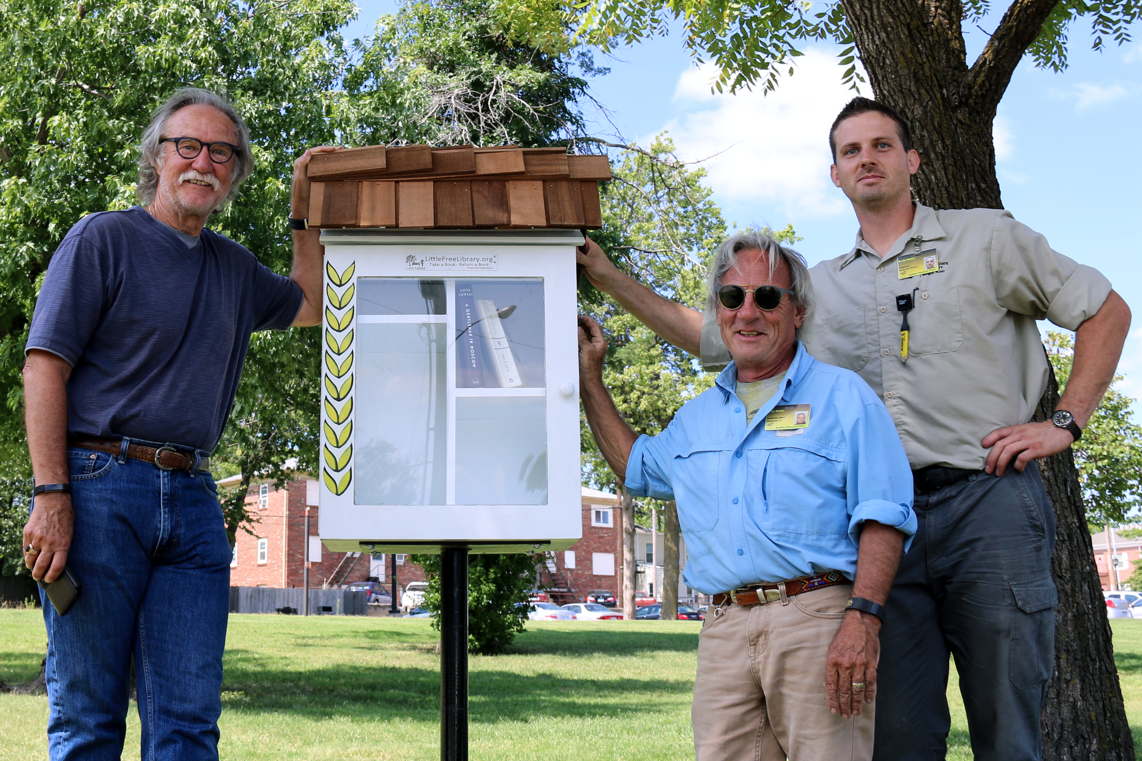
<path id="1" fill-rule="evenodd" d="M 1032 462 L 917 494 L 880 630 L 875 761 L 943 759 L 948 655 L 978 761 L 1038 761 L 1054 669 L 1055 516 Z"/>

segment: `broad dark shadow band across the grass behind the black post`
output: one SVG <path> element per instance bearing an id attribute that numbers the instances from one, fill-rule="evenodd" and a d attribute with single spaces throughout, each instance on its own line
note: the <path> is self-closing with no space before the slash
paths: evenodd
<path id="1" fill-rule="evenodd" d="M 322 718 L 433 721 L 440 712 L 440 672 L 413 666 L 336 664 L 282 670 L 250 650 L 228 650 L 223 705 L 230 711 Z M 485 662 L 486 664 L 486 662 Z M 598 679 L 480 670 L 469 677 L 471 720 L 529 722 L 558 717 L 621 717 L 653 711 L 648 695 L 689 696 L 690 680 Z M 673 710 L 664 706 L 662 710 Z"/>

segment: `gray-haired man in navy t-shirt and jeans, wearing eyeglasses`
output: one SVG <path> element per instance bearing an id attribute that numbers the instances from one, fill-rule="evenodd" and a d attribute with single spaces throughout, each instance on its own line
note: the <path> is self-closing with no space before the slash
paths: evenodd
<path id="1" fill-rule="evenodd" d="M 296 217 L 331 149 L 295 163 Z M 25 564 L 81 584 L 66 615 L 43 600 L 54 760 L 120 758 L 132 658 L 143 755 L 218 758 L 232 551 L 209 458 L 250 334 L 321 319 L 317 230 L 295 230 L 284 277 L 204 226 L 254 169 L 231 104 L 176 91 L 139 153 L 140 205 L 72 227 L 26 345 Z"/>

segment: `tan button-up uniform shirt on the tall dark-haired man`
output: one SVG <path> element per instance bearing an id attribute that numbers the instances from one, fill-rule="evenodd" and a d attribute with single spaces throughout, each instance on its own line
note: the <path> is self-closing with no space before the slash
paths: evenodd
<path id="1" fill-rule="evenodd" d="M 939 269 L 901 278 L 899 259 L 916 253 L 917 243 L 918 261 L 934 256 Z M 916 204 L 912 228 L 883 260 L 858 233 L 852 251 L 810 273 L 817 307 L 799 338 L 814 357 L 855 371 L 884 399 L 914 469 L 983 468 L 983 437 L 1028 422 L 1046 389 L 1035 321 L 1076 330 L 1110 293 L 1096 269 L 1053 251 L 997 209 Z M 902 361 L 896 296 L 914 289 Z M 729 362 L 710 314 L 701 351 L 707 370 Z"/>

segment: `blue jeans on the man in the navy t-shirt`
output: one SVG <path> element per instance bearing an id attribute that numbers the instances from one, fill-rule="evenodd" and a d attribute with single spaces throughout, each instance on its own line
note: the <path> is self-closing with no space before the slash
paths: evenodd
<path id="1" fill-rule="evenodd" d="M 135 656 L 142 756 L 217 759 L 232 557 L 216 486 L 70 448 L 83 591 L 66 616 L 43 600 L 49 756 L 119 759 Z"/>

